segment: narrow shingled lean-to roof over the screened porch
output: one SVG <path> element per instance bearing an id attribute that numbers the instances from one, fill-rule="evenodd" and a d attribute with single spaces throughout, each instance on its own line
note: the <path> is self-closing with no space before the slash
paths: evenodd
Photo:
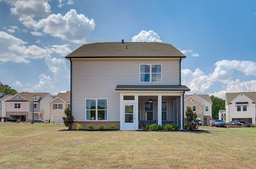
<path id="1" fill-rule="evenodd" d="M 116 91 L 190 91 L 184 85 L 116 85 Z"/>

